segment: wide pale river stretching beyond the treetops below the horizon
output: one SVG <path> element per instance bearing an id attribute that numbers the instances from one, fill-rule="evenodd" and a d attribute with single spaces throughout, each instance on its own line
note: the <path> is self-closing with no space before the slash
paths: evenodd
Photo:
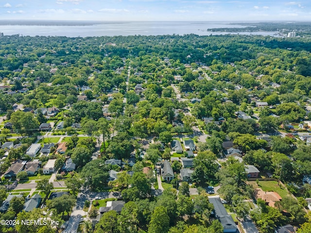
<path id="1" fill-rule="evenodd" d="M 4 35 L 42 35 L 42 36 L 115 36 L 115 35 L 165 35 L 165 34 L 197 34 L 217 35 L 227 32 L 208 32 L 211 28 L 243 28 L 242 25 L 208 22 L 102 22 L 90 25 L 0 25 Z M 238 33 L 231 33 L 238 34 Z M 276 32 L 239 33 L 276 36 Z"/>

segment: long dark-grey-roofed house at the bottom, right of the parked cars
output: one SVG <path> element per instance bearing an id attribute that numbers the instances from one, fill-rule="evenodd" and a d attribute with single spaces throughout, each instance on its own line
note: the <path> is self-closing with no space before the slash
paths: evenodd
<path id="1" fill-rule="evenodd" d="M 224 233 L 240 233 L 231 215 L 228 215 L 225 206 L 220 198 L 208 197 L 210 203 L 214 205 L 215 217 L 221 222 Z"/>

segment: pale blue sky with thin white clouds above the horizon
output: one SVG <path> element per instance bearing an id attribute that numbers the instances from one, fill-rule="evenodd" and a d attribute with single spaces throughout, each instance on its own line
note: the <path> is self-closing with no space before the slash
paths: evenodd
<path id="1" fill-rule="evenodd" d="M 0 19 L 311 21 L 311 1 L 0 0 Z"/>

